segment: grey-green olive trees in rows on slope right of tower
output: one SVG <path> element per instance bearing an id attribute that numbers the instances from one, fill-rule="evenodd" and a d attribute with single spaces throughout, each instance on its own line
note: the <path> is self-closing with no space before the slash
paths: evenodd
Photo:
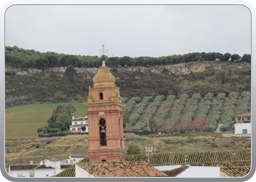
<path id="1" fill-rule="evenodd" d="M 222 122 L 222 127 L 220 127 L 220 130 L 222 132 L 225 132 L 227 130 L 230 130 L 230 127 L 232 127 L 232 121 L 235 119 L 236 114 L 236 106 L 238 105 L 238 92 L 230 92 L 229 96 L 229 104 L 228 108 L 225 111 L 225 118 Z M 159 112 L 159 116 L 155 116 L 157 109 L 159 108 L 160 104 L 162 103 L 162 100 L 164 100 L 162 95 L 157 96 L 154 99 L 154 102 L 151 106 L 151 108 L 154 108 L 149 110 L 146 114 L 146 116 L 136 124 L 132 124 L 132 120 L 138 121 L 141 114 L 146 109 L 146 106 L 148 106 L 148 103 L 152 101 L 151 99 L 144 97 L 143 101 L 140 103 L 139 106 L 143 106 L 140 110 L 140 112 L 135 111 L 134 114 L 132 114 L 132 117 L 129 117 L 129 113 L 127 112 L 127 119 L 124 119 L 124 121 L 128 121 L 127 127 L 125 130 L 145 130 L 146 124 L 148 124 L 148 127 L 150 127 L 151 133 L 153 132 L 185 132 L 197 130 L 200 132 L 208 131 L 212 132 L 214 130 L 217 130 L 219 121 L 222 116 L 223 112 L 223 106 L 225 103 L 225 93 L 219 93 L 217 95 L 217 103 L 214 106 L 214 111 L 211 116 L 211 118 L 208 118 L 208 113 L 212 107 L 212 101 L 214 100 L 213 93 L 208 93 L 204 97 L 204 103 L 201 108 L 200 114 L 195 117 L 195 111 L 197 111 L 198 103 L 200 102 L 201 96 L 199 93 L 195 93 L 192 95 L 191 99 L 191 105 L 187 111 L 187 114 L 184 116 L 181 116 L 182 111 L 184 111 L 184 107 L 186 106 L 188 95 L 183 94 L 180 96 L 179 101 L 177 103 L 176 109 L 170 119 L 167 119 L 167 115 L 170 113 L 170 109 L 173 107 L 173 103 L 176 99 L 175 95 L 168 95 L 166 99 L 166 103 L 162 111 Z M 242 104 L 241 104 L 241 111 L 249 111 L 250 108 L 250 98 L 251 93 L 250 92 L 243 92 L 241 94 L 242 97 Z M 128 100 L 126 98 L 125 100 Z M 131 101 L 134 101 L 133 106 L 135 106 L 135 98 L 130 99 L 127 101 L 127 103 L 131 103 Z M 139 100 L 138 100 L 139 101 Z M 127 108 L 126 108 L 127 109 Z M 126 115 L 126 114 L 125 114 Z M 138 115 L 138 116 L 137 116 Z M 150 115 L 150 116 L 147 116 Z M 154 118 L 153 118 L 154 117 Z M 133 127 L 134 126 L 134 127 Z"/>

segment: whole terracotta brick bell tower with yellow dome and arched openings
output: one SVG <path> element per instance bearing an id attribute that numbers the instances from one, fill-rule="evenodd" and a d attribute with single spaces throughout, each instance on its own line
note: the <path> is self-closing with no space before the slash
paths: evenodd
<path id="1" fill-rule="evenodd" d="M 103 59 L 102 59 L 103 60 Z M 89 119 L 90 162 L 124 161 L 123 111 L 116 79 L 105 67 L 105 60 L 89 87 L 87 116 Z"/>

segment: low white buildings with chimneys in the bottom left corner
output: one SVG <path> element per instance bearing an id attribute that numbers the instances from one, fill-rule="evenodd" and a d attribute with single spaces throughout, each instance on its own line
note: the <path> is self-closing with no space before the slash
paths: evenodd
<path id="1" fill-rule="evenodd" d="M 74 165 L 73 161 L 63 162 L 58 159 L 45 159 L 39 165 L 33 164 L 32 161 L 29 165 L 9 165 L 8 173 L 12 177 L 49 177 L 67 170 L 72 165 Z"/>

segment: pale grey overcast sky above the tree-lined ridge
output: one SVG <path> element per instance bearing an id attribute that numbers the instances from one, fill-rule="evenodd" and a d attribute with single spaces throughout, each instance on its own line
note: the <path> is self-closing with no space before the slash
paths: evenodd
<path id="1" fill-rule="evenodd" d="M 39 52 L 160 57 L 189 52 L 251 54 L 243 5 L 14 5 L 5 45 Z"/>

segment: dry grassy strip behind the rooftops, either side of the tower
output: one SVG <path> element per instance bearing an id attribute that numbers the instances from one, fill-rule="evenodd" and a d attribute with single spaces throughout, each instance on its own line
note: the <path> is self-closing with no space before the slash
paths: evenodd
<path id="1" fill-rule="evenodd" d="M 221 135 L 183 135 L 166 137 L 138 136 L 124 133 L 125 150 L 136 145 L 145 156 L 145 147 L 153 146 L 154 153 L 180 151 L 224 151 L 250 149 L 251 138 L 224 137 Z M 72 135 L 51 141 L 7 141 L 5 143 L 5 166 L 10 164 L 38 164 L 41 160 L 67 159 L 70 155 L 88 155 L 88 135 Z"/>

